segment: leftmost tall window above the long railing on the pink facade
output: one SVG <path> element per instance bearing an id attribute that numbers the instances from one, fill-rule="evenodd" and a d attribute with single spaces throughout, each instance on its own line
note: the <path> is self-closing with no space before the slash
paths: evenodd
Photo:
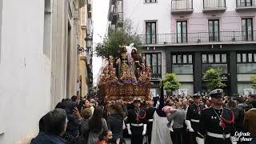
<path id="1" fill-rule="evenodd" d="M 146 43 L 156 43 L 156 22 L 146 22 Z"/>

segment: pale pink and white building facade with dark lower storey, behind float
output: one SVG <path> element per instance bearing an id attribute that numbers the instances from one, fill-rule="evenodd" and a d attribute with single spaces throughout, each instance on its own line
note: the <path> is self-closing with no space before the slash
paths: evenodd
<path id="1" fill-rule="evenodd" d="M 118 1 L 111 2 L 109 20 L 114 28 Z M 130 19 L 141 34 L 142 54 L 152 66 L 153 82 L 174 73 L 188 94 L 206 94 L 202 77 L 213 67 L 222 69 L 226 94 L 251 89 L 250 78 L 256 74 L 255 0 L 121 2 L 122 18 Z"/>

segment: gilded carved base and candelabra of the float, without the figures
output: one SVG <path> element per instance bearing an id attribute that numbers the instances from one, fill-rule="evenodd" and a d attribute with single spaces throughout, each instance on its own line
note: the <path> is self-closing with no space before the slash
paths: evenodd
<path id="1" fill-rule="evenodd" d="M 132 102 L 134 97 L 140 97 L 145 101 L 150 101 L 150 88 L 152 86 L 150 82 L 152 74 L 150 66 L 146 66 L 145 61 L 143 61 L 140 64 L 142 70 L 140 68 L 137 69 L 138 78 L 136 78 L 131 73 L 126 61 L 122 62 L 122 77 L 117 78 L 113 64 L 114 58 L 110 57 L 109 64 L 104 68 L 101 76 L 100 85 L 105 89 L 105 101 L 111 102 L 122 99 L 124 102 Z"/>

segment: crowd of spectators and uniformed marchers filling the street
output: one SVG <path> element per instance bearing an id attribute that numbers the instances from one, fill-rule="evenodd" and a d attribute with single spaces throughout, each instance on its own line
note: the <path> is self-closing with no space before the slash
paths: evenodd
<path id="1" fill-rule="evenodd" d="M 162 90 L 151 102 L 62 99 L 39 120 L 31 144 L 256 143 L 256 95 L 208 95 L 166 97 Z"/>

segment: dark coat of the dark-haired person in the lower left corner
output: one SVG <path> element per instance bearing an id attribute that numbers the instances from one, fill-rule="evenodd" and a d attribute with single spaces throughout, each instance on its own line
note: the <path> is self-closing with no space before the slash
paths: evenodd
<path id="1" fill-rule="evenodd" d="M 38 136 L 31 140 L 30 144 L 66 144 L 66 141 L 52 134 L 39 133 Z"/>

